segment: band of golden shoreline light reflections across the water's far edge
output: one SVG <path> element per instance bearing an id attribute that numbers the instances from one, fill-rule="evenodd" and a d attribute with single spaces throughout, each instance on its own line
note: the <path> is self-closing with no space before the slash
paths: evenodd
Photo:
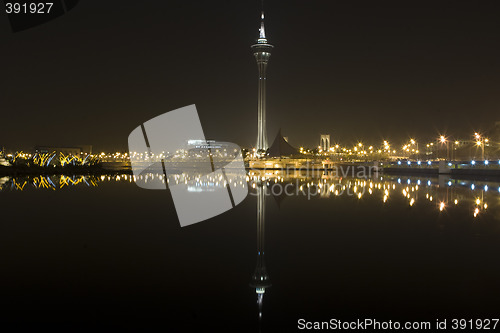
<path id="1" fill-rule="evenodd" d="M 37 175 L 37 176 L 5 176 L 0 178 L 0 193 L 5 191 L 62 190 L 71 187 L 97 187 L 105 182 L 133 184 L 137 178 L 156 179 L 165 182 L 163 174 L 129 174 L 106 175 Z M 201 180 L 203 179 L 203 181 Z M 189 191 L 213 191 L 216 187 L 224 187 L 224 180 L 217 177 L 202 177 L 189 173 L 179 173 L 167 178 L 167 183 L 186 183 L 195 180 Z M 250 194 L 255 192 L 259 184 L 266 185 L 266 195 L 276 195 L 277 187 L 292 189 L 291 193 L 279 195 L 306 196 L 310 200 L 352 197 L 359 201 L 366 198 L 380 200 L 383 205 L 406 202 L 414 209 L 422 205 L 434 206 L 438 212 L 468 208 L 470 216 L 479 217 L 486 213 L 500 215 L 500 192 L 489 191 L 500 188 L 499 182 L 467 181 L 437 178 L 408 178 L 404 182 L 397 177 L 383 176 L 376 178 L 348 178 L 328 175 L 303 175 L 301 173 L 285 174 L 284 172 L 266 172 L 250 170 L 241 179 L 229 179 L 235 186 L 248 183 Z M 419 184 L 421 184 L 419 186 Z M 290 192 L 289 191 L 289 192 Z M 395 198 L 400 200 L 394 200 Z M 403 201 L 401 201 L 401 199 Z"/>

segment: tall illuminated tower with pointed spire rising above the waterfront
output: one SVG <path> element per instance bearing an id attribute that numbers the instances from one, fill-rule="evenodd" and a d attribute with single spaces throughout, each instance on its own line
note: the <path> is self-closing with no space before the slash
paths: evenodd
<path id="1" fill-rule="evenodd" d="M 258 93 L 258 119 L 257 119 L 257 152 L 262 154 L 267 150 L 267 129 L 266 129 L 266 69 L 273 45 L 267 42 L 266 30 L 264 29 L 264 10 L 260 17 L 259 38 L 257 44 L 252 45 L 253 55 L 257 60 L 259 69 L 259 93 Z"/>

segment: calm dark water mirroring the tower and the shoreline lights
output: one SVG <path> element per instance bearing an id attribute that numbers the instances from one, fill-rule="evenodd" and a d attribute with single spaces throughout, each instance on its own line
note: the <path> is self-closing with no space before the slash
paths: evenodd
<path id="1" fill-rule="evenodd" d="M 235 209 L 180 228 L 169 192 L 130 176 L 48 178 L 0 178 L 12 330 L 498 317 L 498 181 L 260 175 Z"/>

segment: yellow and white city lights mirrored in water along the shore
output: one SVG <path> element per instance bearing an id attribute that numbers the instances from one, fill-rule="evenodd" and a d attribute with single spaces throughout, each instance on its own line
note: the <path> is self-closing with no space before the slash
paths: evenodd
<path id="1" fill-rule="evenodd" d="M 403 162 L 406 161 L 403 160 Z M 275 162 L 272 163 L 271 167 L 274 167 L 274 163 Z M 490 216 L 495 216 L 495 214 L 497 214 L 497 209 L 500 208 L 500 201 L 497 203 L 497 199 L 500 198 L 499 197 L 500 184 L 498 182 L 495 184 L 490 181 L 484 181 L 484 182 L 481 181 L 481 184 L 478 183 L 476 185 L 475 183 L 463 180 L 455 180 L 455 181 L 446 180 L 444 183 L 445 188 L 443 189 L 442 184 L 438 185 L 437 180 L 435 180 L 436 183 L 434 184 L 434 186 L 431 187 L 431 186 L 422 186 L 425 184 L 422 184 L 421 186 L 417 185 L 421 184 L 422 181 L 424 183 L 427 183 L 428 185 L 431 185 L 430 180 L 427 181 L 420 180 L 414 177 L 412 178 L 405 177 L 405 178 L 407 179 L 404 180 L 404 178 L 403 179 L 392 178 L 391 176 L 383 176 L 383 177 L 377 176 L 376 178 L 371 178 L 371 179 L 359 179 L 359 178 L 356 179 L 356 178 L 342 178 L 333 175 L 330 176 L 323 174 L 321 175 L 320 178 L 316 176 L 303 177 L 302 175 L 300 176 L 293 175 L 289 177 L 286 176 L 286 174 L 284 174 L 283 171 L 277 171 L 273 169 L 272 172 L 269 172 L 269 170 L 248 171 L 247 175 L 241 179 L 231 180 L 231 178 L 228 178 L 228 183 L 234 185 L 235 187 L 238 184 L 239 184 L 238 186 L 247 186 L 248 183 L 248 187 L 255 189 L 257 185 L 259 187 L 261 185 L 265 187 L 266 183 L 268 185 L 273 184 L 273 186 L 274 184 L 277 184 L 277 186 L 284 186 L 285 184 L 288 185 L 287 183 L 291 182 L 291 180 L 296 179 L 297 186 L 289 187 L 289 188 L 294 188 L 293 190 L 294 194 L 291 195 L 299 195 L 295 194 L 299 192 L 296 191 L 298 190 L 299 187 L 300 191 L 302 191 L 303 189 L 308 191 L 308 189 L 306 188 L 307 186 L 309 188 L 309 191 L 313 192 L 312 196 L 315 196 L 316 192 L 320 194 L 316 196 L 318 198 L 319 197 L 325 198 L 329 196 L 333 198 L 333 193 L 335 193 L 335 196 L 347 196 L 351 197 L 354 200 L 363 199 L 363 201 L 365 201 L 366 199 L 367 201 L 369 201 L 369 200 L 380 200 L 376 199 L 379 198 L 378 195 L 380 195 L 383 200 L 383 203 L 386 203 L 388 201 L 389 195 L 391 195 L 390 192 L 394 190 L 392 195 L 396 195 L 396 197 L 399 197 L 397 193 L 402 193 L 402 195 L 405 197 L 404 201 L 396 199 L 394 204 L 403 203 L 403 205 L 405 206 L 409 205 L 413 207 L 415 206 L 417 199 L 423 198 L 424 196 L 426 198 L 424 202 L 427 202 L 427 200 L 432 202 L 434 199 L 436 199 L 436 205 L 434 204 L 429 205 L 433 207 L 433 210 L 435 211 L 436 214 L 443 211 L 447 212 L 452 209 L 458 209 L 459 207 L 466 208 L 467 206 L 470 206 L 469 209 L 474 213 L 474 217 L 477 217 L 479 214 L 484 214 L 485 216 L 490 217 Z M 64 175 L 50 176 L 50 177 L 33 176 L 33 177 L 11 177 L 7 178 L 7 180 L 5 180 L 5 177 L 4 178 L 0 177 L 0 191 L 3 191 L 5 189 L 26 191 L 27 188 L 31 187 L 35 187 L 37 189 L 56 190 L 59 188 L 63 187 L 66 188 L 67 186 L 71 187 L 75 185 L 98 186 L 98 184 L 106 180 L 111 182 L 129 183 L 137 179 L 141 179 L 143 181 L 144 179 L 147 179 L 148 182 L 154 181 L 155 179 L 160 179 L 161 181 L 168 181 L 164 178 L 163 174 L 161 173 L 160 174 L 145 173 L 143 175 L 138 175 L 138 176 L 134 176 L 131 174 L 113 174 L 113 173 L 107 175 L 99 174 L 96 176 L 64 176 Z M 202 178 L 200 178 L 200 176 L 198 175 L 193 176 L 183 173 L 175 175 L 175 177 L 172 176 L 170 178 L 170 182 L 174 184 L 175 183 L 187 184 L 188 181 L 195 180 L 196 185 L 192 187 L 193 191 L 200 191 L 200 187 L 201 188 L 215 187 L 215 186 L 223 187 L 227 185 L 226 180 L 224 180 L 222 176 L 214 177 L 213 179 L 211 178 L 209 183 L 203 183 L 203 181 L 200 179 Z M 213 183 L 210 183 L 212 181 Z M 283 181 L 285 182 L 285 184 L 279 184 L 280 182 Z M 449 190 L 448 187 L 452 187 L 453 190 Z M 495 188 L 497 188 L 498 192 L 494 191 Z M 324 190 L 320 191 L 320 189 Z M 470 191 L 470 189 L 475 191 L 472 192 Z M 365 196 L 366 193 L 365 191 L 368 192 L 370 196 Z M 422 193 L 419 193 L 419 191 Z M 491 193 L 492 191 L 494 193 Z M 357 198 L 354 198 L 354 196 L 356 196 Z M 434 196 L 436 198 L 434 198 Z M 461 199 L 458 199 L 459 197 Z M 443 198 L 447 198 L 446 201 L 443 200 Z M 406 199 L 408 201 L 406 201 Z M 459 201 L 460 201 L 460 206 L 458 206 Z M 485 201 L 488 201 L 489 205 Z M 439 211 L 436 208 L 438 208 Z M 424 209 L 424 208 L 421 208 L 419 205 L 418 209 Z"/>

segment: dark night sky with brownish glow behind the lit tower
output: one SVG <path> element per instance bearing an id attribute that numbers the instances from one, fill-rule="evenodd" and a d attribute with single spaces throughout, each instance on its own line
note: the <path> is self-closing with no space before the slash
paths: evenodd
<path id="1" fill-rule="evenodd" d="M 268 136 L 293 145 L 469 137 L 500 120 L 500 2 L 267 1 Z M 12 33 L 0 14 L 0 145 L 127 148 L 196 104 L 207 138 L 255 144 L 260 1 L 83 0 Z"/>

